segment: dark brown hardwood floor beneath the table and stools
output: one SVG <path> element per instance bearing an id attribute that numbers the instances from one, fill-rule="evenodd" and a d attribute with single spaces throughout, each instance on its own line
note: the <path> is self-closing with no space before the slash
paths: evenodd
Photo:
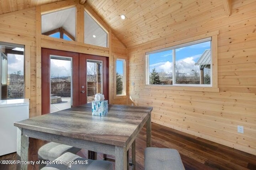
<path id="1" fill-rule="evenodd" d="M 30 140 L 30 160 L 37 160 L 37 150 L 43 144 L 43 141 Z M 136 170 L 144 169 L 145 146 L 146 129 L 143 128 L 136 139 Z M 256 155 L 188 135 L 156 123 L 152 123 L 152 147 L 177 149 L 186 170 L 256 170 Z M 86 157 L 87 152 L 82 150 L 79 155 Z M 98 159 L 102 158 L 103 154 L 98 153 Z M 16 154 L 0 156 L 0 160 L 6 159 L 14 160 Z M 15 165 L 0 164 L 0 170 L 14 169 L 16 169 Z M 38 170 L 38 166 L 29 166 L 29 169 Z"/>

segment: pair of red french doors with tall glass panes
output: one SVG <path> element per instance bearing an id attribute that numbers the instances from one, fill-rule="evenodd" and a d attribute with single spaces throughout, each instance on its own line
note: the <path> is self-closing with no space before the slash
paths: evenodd
<path id="1" fill-rule="evenodd" d="M 53 112 L 53 107 L 65 109 L 66 101 L 52 104 L 58 98 L 69 95 L 74 107 L 91 102 L 96 93 L 108 100 L 108 57 L 42 48 L 42 114 Z"/>

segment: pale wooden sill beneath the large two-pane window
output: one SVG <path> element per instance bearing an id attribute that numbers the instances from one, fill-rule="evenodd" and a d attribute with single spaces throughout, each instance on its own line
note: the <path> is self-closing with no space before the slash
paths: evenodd
<path id="1" fill-rule="evenodd" d="M 196 87 L 196 86 L 170 86 L 170 85 L 146 85 L 148 89 L 160 89 L 160 90 L 183 90 L 183 91 L 197 91 L 197 92 L 220 92 L 217 87 Z"/>

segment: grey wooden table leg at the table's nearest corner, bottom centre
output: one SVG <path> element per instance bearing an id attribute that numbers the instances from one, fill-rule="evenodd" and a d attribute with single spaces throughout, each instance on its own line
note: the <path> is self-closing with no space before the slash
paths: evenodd
<path id="1" fill-rule="evenodd" d="M 124 147 L 116 146 L 116 170 L 127 169 L 127 152 Z"/>

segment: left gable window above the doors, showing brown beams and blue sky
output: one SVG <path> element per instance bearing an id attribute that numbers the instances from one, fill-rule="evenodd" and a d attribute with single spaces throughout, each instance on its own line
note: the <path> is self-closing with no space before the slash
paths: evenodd
<path id="1" fill-rule="evenodd" d="M 68 8 L 42 15 L 42 34 L 76 40 L 76 8 Z"/>

